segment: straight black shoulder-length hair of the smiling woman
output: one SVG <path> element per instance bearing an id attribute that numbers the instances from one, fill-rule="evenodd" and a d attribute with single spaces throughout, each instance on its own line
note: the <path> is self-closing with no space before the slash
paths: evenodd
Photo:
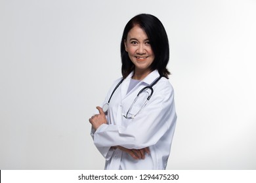
<path id="1" fill-rule="evenodd" d="M 139 25 L 140 28 L 145 31 L 154 52 L 155 59 L 150 65 L 150 69 L 152 71 L 157 69 L 161 76 L 168 78 L 170 72 L 166 68 L 169 61 L 169 42 L 167 33 L 160 20 L 151 14 L 139 14 L 129 20 L 129 22 L 125 25 L 123 37 L 121 39 L 121 72 L 123 78 L 126 78 L 131 71 L 135 69 L 133 62 L 129 58 L 128 53 L 125 51 L 124 44 L 129 31 L 135 27 L 135 25 Z"/>

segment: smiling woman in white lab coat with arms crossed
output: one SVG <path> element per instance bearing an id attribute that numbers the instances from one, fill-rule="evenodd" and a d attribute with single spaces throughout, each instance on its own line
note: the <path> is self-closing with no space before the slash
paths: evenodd
<path id="1" fill-rule="evenodd" d="M 105 169 L 165 169 L 177 115 L 167 80 L 169 43 L 158 18 L 139 14 L 127 23 L 121 61 L 123 77 L 89 119 L 95 146 Z"/>

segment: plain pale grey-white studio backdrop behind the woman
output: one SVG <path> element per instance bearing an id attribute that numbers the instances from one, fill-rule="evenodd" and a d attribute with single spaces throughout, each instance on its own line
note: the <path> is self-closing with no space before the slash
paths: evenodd
<path id="1" fill-rule="evenodd" d="M 177 128 L 167 169 L 256 169 L 253 0 L 0 0 L 0 169 L 103 169 L 88 122 L 121 76 L 139 13 L 171 46 Z"/>

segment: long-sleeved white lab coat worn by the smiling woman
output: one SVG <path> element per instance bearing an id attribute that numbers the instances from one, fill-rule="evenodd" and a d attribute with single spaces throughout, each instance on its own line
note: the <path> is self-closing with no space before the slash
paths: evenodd
<path id="1" fill-rule="evenodd" d="M 133 73 L 123 80 L 112 96 L 106 115 L 108 124 L 100 125 L 96 131 L 92 129 L 91 136 L 95 146 L 106 158 L 105 169 L 165 169 L 177 119 L 173 87 L 169 80 L 162 77 L 153 86 L 154 93 L 148 104 L 134 119 L 126 119 L 123 114 L 127 113 L 139 91 L 152 84 L 160 75 L 158 71 L 152 71 L 127 93 L 131 76 Z M 114 82 L 104 103 L 107 103 L 120 80 L 121 78 Z M 139 99 L 133 106 L 131 114 L 139 110 L 142 105 L 139 103 L 146 101 L 143 96 Z M 133 159 L 126 152 L 119 148 L 111 148 L 112 146 L 129 149 L 149 147 L 150 154 L 146 154 L 145 159 Z"/>

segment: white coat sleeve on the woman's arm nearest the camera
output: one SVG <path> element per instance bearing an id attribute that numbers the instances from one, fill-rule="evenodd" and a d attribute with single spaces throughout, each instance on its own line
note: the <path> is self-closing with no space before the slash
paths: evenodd
<path id="1" fill-rule="evenodd" d="M 145 148 L 156 144 L 170 127 L 175 127 L 174 93 L 171 84 L 161 85 L 150 102 L 127 126 L 103 124 L 95 132 L 95 145 Z"/>

